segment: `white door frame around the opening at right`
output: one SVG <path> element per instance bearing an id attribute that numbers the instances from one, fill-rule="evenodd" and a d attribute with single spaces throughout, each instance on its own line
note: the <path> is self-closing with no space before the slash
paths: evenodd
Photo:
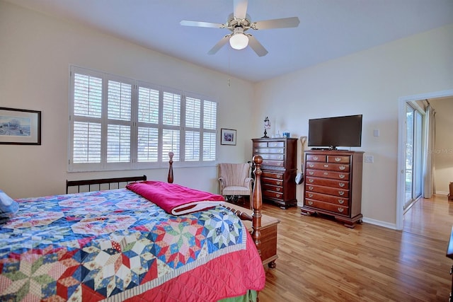
<path id="1" fill-rule="evenodd" d="M 403 229 L 403 207 L 405 200 L 406 185 L 406 103 L 415 100 L 426 100 L 430 98 L 444 98 L 453 96 L 453 89 L 436 91 L 418 95 L 408 95 L 398 98 L 398 170 L 396 175 L 396 229 Z M 425 143 L 424 143 L 425 144 Z M 423 192 L 422 192 L 423 194 Z"/>

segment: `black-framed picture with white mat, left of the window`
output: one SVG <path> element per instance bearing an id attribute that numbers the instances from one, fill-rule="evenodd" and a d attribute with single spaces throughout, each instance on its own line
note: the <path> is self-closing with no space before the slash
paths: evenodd
<path id="1" fill-rule="evenodd" d="M 41 112 L 0 107 L 0 144 L 40 145 Z"/>

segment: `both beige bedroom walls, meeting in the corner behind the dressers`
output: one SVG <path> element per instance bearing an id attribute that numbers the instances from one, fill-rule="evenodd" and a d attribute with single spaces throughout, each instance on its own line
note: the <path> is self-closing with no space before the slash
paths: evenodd
<path id="1" fill-rule="evenodd" d="M 219 128 L 238 130 L 237 146 L 220 146 L 219 161 L 248 160 L 250 139 L 262 134 L 265 116 L 271 134 L 287 129 L 300 137 L 308 134 L 310 118 L 362 114 L 362 147 L 354 150 L 374 156 L 364 164 L 362 213 L 365 221 L 393 227 L 398 98 L 453 88 L 453 25 L 270 81 L 233 79 L 230 87 L 224 74 L 1 0 L 0 41 L 0 105 L 42 110 L 43 120 L 42 146 L 0 146 L 0 188 L 15 198 L 62 193 L 67 178 L 99 175 L 67 173 L 69 65 L 76 64 L 217 98 Z M 142 173 L 166 177 L 164 170 L 121 174 Z M 210 191 L 217 190 L 216 177 L 215 167 L 181 168 L 175 175 L 178 183 Z M 302 202 L 302 185 L 297 198 Z"/>

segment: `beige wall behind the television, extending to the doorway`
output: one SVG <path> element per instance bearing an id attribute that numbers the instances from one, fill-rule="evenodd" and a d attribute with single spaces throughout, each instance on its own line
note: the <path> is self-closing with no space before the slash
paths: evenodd
<path id="1" fill-rule="evenodd" d="M 362 114 L 362 147 L 352 150 L 374 156 L 363 168 L 364 221 L 396 227 L 398 98 L 452 89 L 452 71 L 449 25 L 258 83 L 258 116 L 299 137 L 310 118 Z"/>

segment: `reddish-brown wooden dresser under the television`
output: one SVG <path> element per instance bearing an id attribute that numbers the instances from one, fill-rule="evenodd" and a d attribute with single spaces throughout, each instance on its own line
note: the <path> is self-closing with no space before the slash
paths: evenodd
<path id="1" fill-rule="evenodd" d="M 362 222 L 362 151 L 305 151 L 302 214 L 334 216 L 353 228 Z"/>

